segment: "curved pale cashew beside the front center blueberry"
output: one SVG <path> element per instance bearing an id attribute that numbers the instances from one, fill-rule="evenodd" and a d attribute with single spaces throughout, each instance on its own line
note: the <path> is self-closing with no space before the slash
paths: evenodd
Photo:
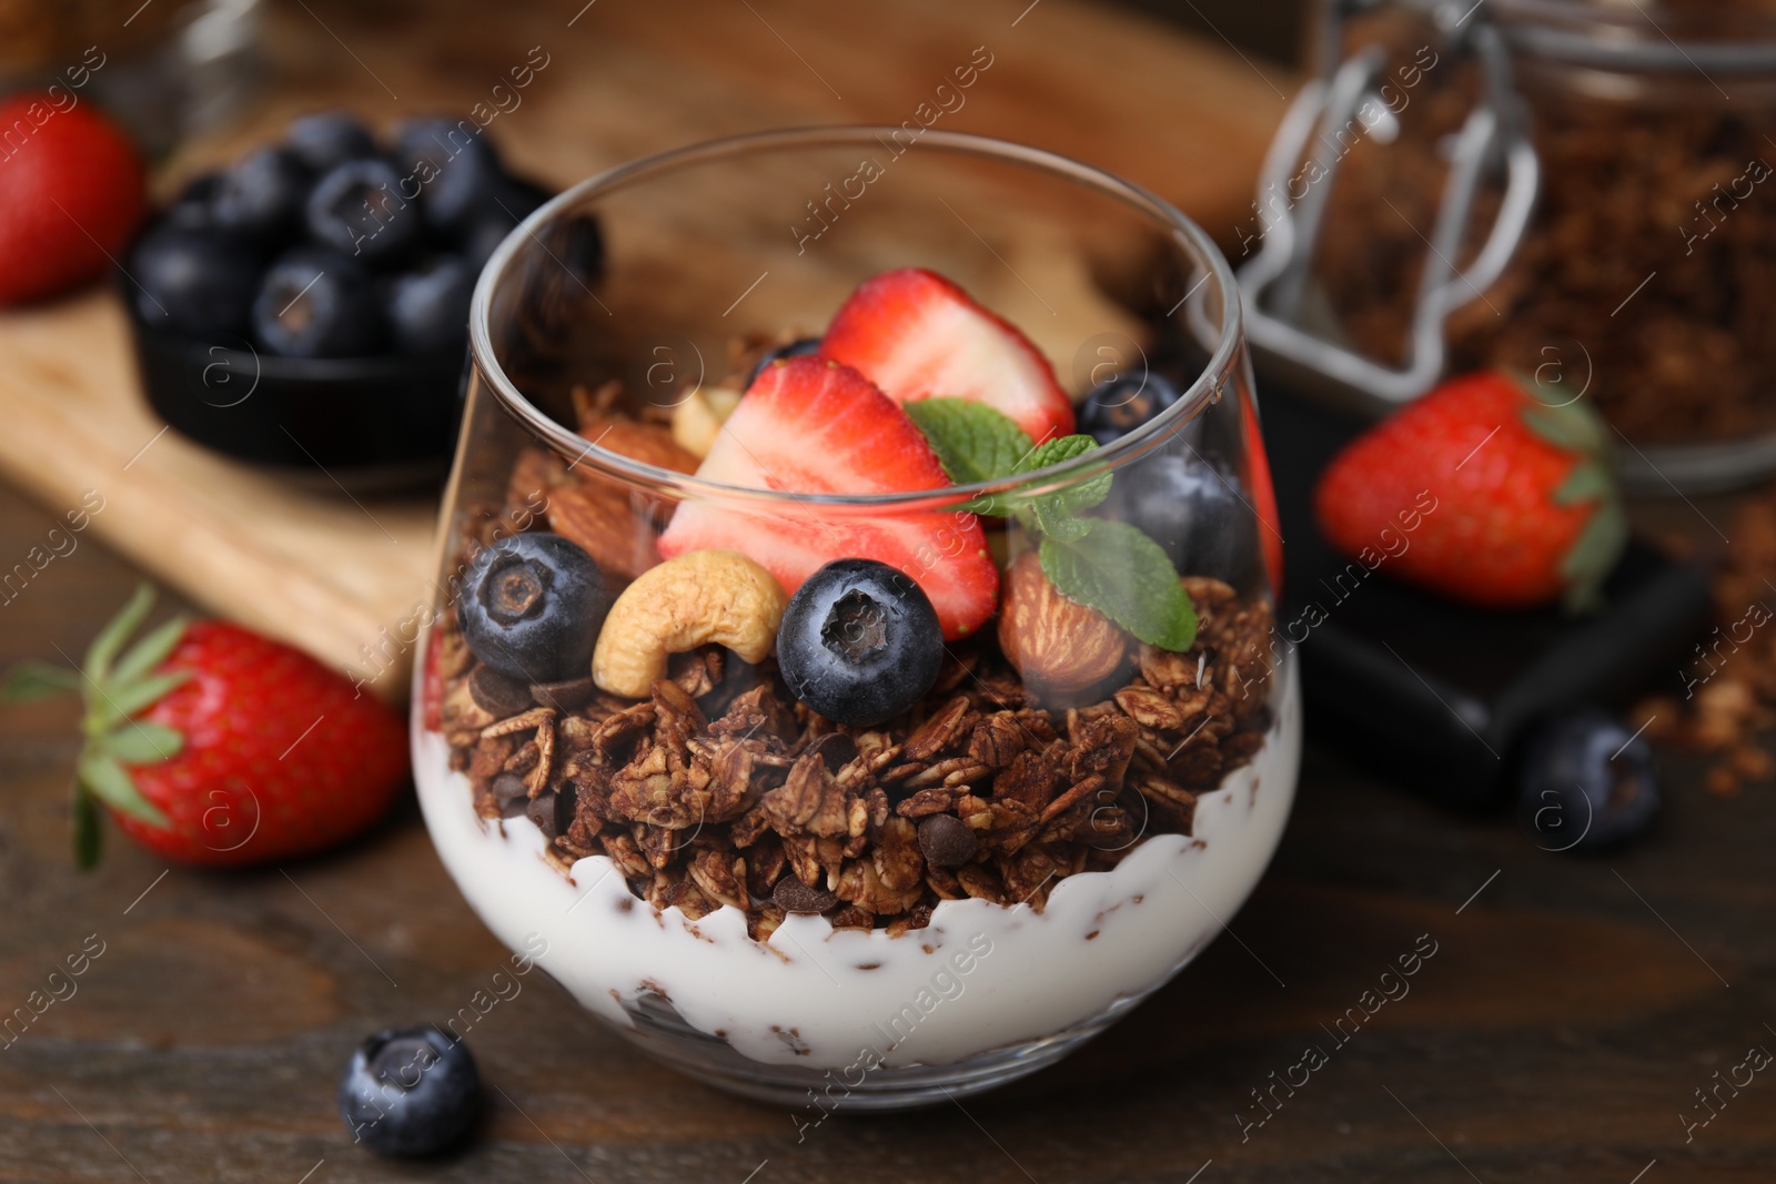
<path id="1" fill-rule="evenodd" d="M 737 550 L 691 550 L 648 568 L 611 605 L 591 653 L 591 680 L 609 694 L 646 698 L 666 655 L 714 643 L 746 662 L 776 648 L 789 596 Z"/>

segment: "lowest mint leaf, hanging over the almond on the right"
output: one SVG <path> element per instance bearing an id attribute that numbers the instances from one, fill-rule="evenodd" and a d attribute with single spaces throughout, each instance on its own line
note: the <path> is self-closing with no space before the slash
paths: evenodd
<path id="1" fill-rule="evenodd" d="M 1043 572 L 1069 600 L 1090 605 L 1162 650 L 1183 651 L 1197 639 L 1197 611 L 1165 550 L 1126 522 L 1080 518 L 1078 538 L 1044 538 Z"/>

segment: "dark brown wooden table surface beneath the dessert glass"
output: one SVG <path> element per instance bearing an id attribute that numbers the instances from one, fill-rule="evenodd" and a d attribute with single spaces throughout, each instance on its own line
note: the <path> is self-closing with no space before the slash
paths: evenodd
<path id="1" fill-rule="evenodd" d="M 474 44 L 483 25 L 458 27 L 460 57 L 448 57 L 439 36 L 410 37 L 392 16 L 385 36 L 359 39 L 352 28 L 362 25 L 348 28 L 343 5 L 311 7 L 398 91 L 421 67 L 471 75 L 510 46 L 535 44 L 504 25 L 504 11 L 474 18 L 485 48 Z M 577 0 L 558 25 L 572 7 Z M 1019 28 L 1051 12 L 1078 16 L 1048 0 Z M 471 21 L 460 11 L 456 20 Z M 723 20 L 732 27 L 686 32 L 709 44 L 758 23 L 746 5 Z M 780 28 L 822 60 L 819 27 Z M 1080 71 L 1103 80 L 1103 112 L 1117 112 L 1124 71 L 1089 64 L 1092 28 L 1073 27 Z M 579 43 L 552 36 L 586 53 L 632 37 L 662 55 L 677 36 L 666 5 L 634 0 L 600 0 L 575 30 Z M 947 32 L 934 23 L 929 37 L 943 48 Z M 289 41 L 286 53 L 313 55 L 316 69 L 357 69 L 318 34 Z M 675 78 L 670 55 L 599 62 L 634 94 L 655 87 L 670 105 L 678 87 L 742 71 L 739 53 Z M 563 75 L 584 69 L 563 55 Z M 808 73 L 783 53 L 771 85 L 819 87 Z M 849 71 L 831 82 L 847 101 L 890 85 Z M 1103 112 L 1078 119 L 1119 135 Z M 629 147 L 654 147 L 648 126 L 659 117 L 659 107 L 634 103 Z M 588 147 L 583 163 L 600 163 L 597 154 Z M 23 556 L 52 524 L 0 492 L 0 556 Z M 0 660 L 76 655 L 135 579 L 83 541 L 0 607 Z M 439 866 L 416 808 L 348 850 L 284 868 L 169 872 L 112 843 L 103 868 L 80 875 L 64 827 L 75 724 L 75 710 L 57 705 L 0 714 L 0 1014 L 23 1006 L 67 955 L 103 944 L 78 992 L 0 1047 L 0 1180 L 1772 1177 L 1776 1081 L 1760 1076 L 1737 1097 L 1723 1088 L 1719 1117 L 1693 1141 L 1680 1115 L 1707 1113 L 1693 1092 L 1712 1088 L 1716 1070 L 1724 1077 L 1753 1046 L 1776 1049 L 1765 838 L 1776 799 L 1707 797 L 1685 762 L 1666 763 L 1655 834 L 1607 859 L 1572 859 L 1536 850 L 1506 818 L 1451 817 L 1311 747 L 1282 850 L 1233 918 L 1236 939 L 1217 941 L 1058 1069 L 966 1109 L 835 1118 L 805 1141 L 790 1115 L 655 1067 L 563 991 L 526 980 L 469 1037 L 490 1085 L 485 1131 L 464 1157 L 403 1166 L 352 1147 L 332 1108 L 337 1074 L 364 1033 L 448 1017 L 504 964 Z M 1327 1030 L 1378 992 L 1421 935 L 1437 953 L 1408 980 L 1410 994 L 1336 1044 Z M 1272 1088 L 1272 1074 L 1288 1074 L 1307 1046 L 1327 1063 L 1293 1095 L 1279 1090 L 1275 1115 L 1241 1138 L 1240 1115 L 1254 1124 L 1261 1115 L 1252 1092 Z"/>

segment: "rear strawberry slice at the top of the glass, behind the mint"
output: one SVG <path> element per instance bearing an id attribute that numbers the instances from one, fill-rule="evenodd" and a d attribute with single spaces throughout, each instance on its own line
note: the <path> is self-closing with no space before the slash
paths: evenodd
<path id="1" fill-rule="evenodd" d="M 1037 444 L 1073 435 L 1073 401 L 1041 350 L 924 268 L 863 280 L 826 327 L 821 357 L 863 371 L 895 403 L 973 399 Z"/>

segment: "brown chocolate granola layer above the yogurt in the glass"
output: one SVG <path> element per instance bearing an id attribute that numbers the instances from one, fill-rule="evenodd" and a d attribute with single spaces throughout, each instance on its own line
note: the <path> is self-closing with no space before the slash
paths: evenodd
<path id="1" fill-rule="evenodd" d="M 533 504 L 483 522 L 529 522 Z M 675 655 L 645 699 L 590 678 L 527 687 L 481 666 L 446 614 L 439 717 L 490 825 L 524 813 L 563 873 L 607 856 L 657 909 L 696 920 L 733 905 L 755 939 L 789 912 L 900 934 L 941 900 L 1041 911 L 1062 877 L 1114 868 L 1151 834 L 1190 834 L 1197 793 L 1265 744 L 1268 602 L 1213 579 L 1183 586 L 1192 648 L 1133 648 L 1103 698 L 1039 701 L 982 634 L 952 644 L 931 692 L 879 728 L 822 719 L 774 660 L 721 646 Z"/>

